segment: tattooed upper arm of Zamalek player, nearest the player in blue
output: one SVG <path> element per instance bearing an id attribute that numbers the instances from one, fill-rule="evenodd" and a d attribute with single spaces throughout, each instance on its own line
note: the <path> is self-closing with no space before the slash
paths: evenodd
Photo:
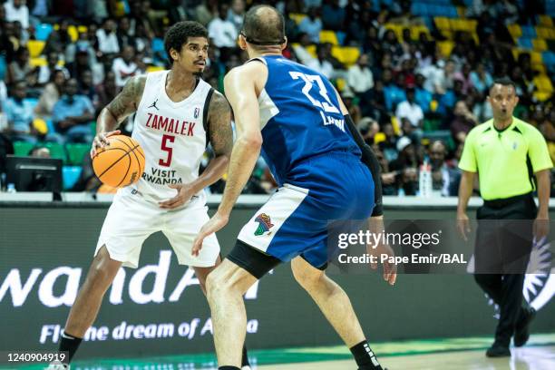
<path id="1" fill-rule="evenodd" d="M 226 97 L 218 92 L 214 92 L 210 100 L 209 138 L 216 156 L 231 155 L 233 149 L 231 107 Z"/>

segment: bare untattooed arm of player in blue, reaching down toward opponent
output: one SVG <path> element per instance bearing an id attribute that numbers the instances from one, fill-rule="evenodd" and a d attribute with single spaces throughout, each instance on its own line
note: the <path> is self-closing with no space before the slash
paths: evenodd
<path id="1" fill-rule="evenodd" d="M 245 187 L 258 160 L 262 146 L 256 79 L 266 78 L 262 63 L 247 63 L 234 68 L 226 75 L 224 87 L 233 109 L 237 141 L 231 151 L 228 180 L 216 214 L 207 222 L 193 242 L 192 254 L 198 255 L 202 241 L 222 229 L 229 221 L 229 214 Z M 268 72 L 266 72 L 268 73 Z"/>

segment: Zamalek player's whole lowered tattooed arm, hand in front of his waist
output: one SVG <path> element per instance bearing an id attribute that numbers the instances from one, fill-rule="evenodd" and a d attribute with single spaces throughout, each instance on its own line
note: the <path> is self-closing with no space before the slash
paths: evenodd
<path id="1" fill-rule="evenodd" d="M 209 140 L 215 152 L 215 157 L 197 180 L 188 184 L 170 185 L 178 190 L 178 194 L 170 200 L 160 202 L 162 209 L 180 207 L 190 198 L 207 186 L 221 179 L 228 169 L 229 157 L 233 149 L 233 131 L 231 130 L 231 108 L 227 99 L 218 92 L 212 94 L 209 102 L 208 114 Z"/>

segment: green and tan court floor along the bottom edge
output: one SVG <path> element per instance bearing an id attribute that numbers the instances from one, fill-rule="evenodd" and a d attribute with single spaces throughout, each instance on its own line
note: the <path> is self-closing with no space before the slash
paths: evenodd
<path id="1" fill-rule="evenodd" d="M 555 333 L 534 334 L 529 344 L 511 348 L 511 357 L 491 359 L 491 337 L 461 337 L 371 344 L 388 370 L 555 370 Z M 355 370 L 345 346 L 292 347 L 249 351 L 253 370 Z M 208 370 L 213 353 L 142 358 L 77 360 L 72 370 Z M 3 366 L 0 370 L 43 370 L 44 365 Z"/>

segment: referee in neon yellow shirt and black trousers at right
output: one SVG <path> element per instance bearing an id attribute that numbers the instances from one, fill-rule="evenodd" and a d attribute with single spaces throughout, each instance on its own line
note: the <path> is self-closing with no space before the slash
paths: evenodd
<path id="1" fill-rule="evenodd" d="M 549 232 L 552 163 L 540 131 L 512 116 L 519 98 L 511 80 L 496 80 L 488 102 L 493 119 L 474 127 L 464 141 L 457 223 L 467 239 L 470 222 L 466 207 L 478 173 L 484 201 L 476 214 L 474 278 L 500 307 L 495 341 L 486 355 L 501 357 L 511 355 L 511 336 L 514 346 L 524 346 L 530 336 L 535 310 L 522 307 L 522 287 L 533 238 L 543 239 Z M 536 184 L 539 208 L 532 195 Z"/>

